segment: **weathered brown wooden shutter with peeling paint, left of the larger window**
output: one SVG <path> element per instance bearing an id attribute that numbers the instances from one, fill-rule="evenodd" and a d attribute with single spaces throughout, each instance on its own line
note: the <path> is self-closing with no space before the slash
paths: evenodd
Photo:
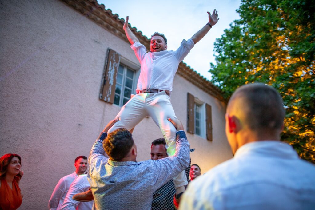
<path id="1" fill-rule="evenodd" d="M 114 103 L 116 76 L 119 67 L 120 56 L 117 52 L 108 48 L 106 64 L 102 79 L 102 87 L 100 90 L 100 99 Z"/>

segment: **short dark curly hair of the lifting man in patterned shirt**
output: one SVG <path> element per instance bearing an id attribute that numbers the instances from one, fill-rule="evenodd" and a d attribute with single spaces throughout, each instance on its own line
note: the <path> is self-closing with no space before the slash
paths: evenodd
<path id="1" fill-rule="evenodd" d="M 134 145 L 134 139 L 126 128 L 118 128 L 109 133 L 103 141 L 106 154 L 114 161 L 121 161 Z"/>

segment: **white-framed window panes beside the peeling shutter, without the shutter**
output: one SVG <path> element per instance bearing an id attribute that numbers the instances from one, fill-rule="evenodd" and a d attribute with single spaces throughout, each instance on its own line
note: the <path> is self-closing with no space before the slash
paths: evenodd
<path id="1" fill-rule="evenodd" d="M 130 95 L 133 93 L 134 80 L 135 71 L 123 64 L 119 64 L 116 77 L 114 104 L 123 106 L 127 103 L 130 99 Z"/>

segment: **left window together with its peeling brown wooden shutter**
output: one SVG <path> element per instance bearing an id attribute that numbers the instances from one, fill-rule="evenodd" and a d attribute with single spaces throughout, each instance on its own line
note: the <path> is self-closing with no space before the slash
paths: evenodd
<path id="1" fill-rule="evenodd" d="M 139 65 L 121 57 L 108 49 L 100 88 L 100 99 L 111 104 L 123 106 L 131 94 L 135 94 Z"/>

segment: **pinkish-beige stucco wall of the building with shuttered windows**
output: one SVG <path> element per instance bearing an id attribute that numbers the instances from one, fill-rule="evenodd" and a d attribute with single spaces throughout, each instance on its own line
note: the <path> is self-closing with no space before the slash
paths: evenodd
<path id="1" fill-rule="evenodd" d="M 88 156 L 120 107 L 99 100 L 106 50 L 138 64 L 129 43 L 58 0 L 1 1 L 0 155 L 22 157 L 20 209 L 46 209 L 58 180 Z M 188 134 L 192 163 L 205 172 L 232 157 L 224 134 L 225 105 L 176 75 L 172 104 L 186 127 L 187 92 L 210 104 L 213 142 Z M 151 118 L 135 128 L 138 161 L 162 135 Z"/>

